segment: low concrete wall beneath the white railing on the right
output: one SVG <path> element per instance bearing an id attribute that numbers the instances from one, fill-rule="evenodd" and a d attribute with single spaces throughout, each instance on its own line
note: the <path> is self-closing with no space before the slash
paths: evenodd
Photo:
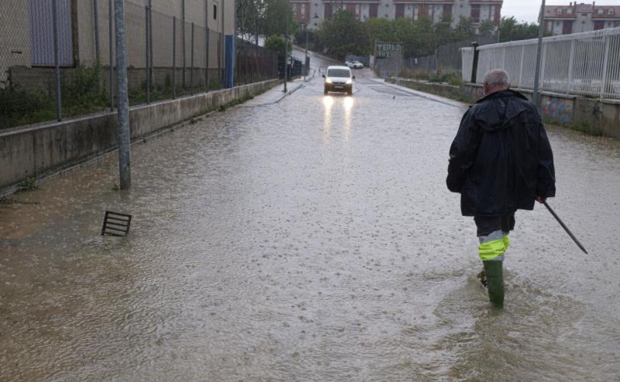
<path id="1" fill-rule="evenodd" d="M 473 103 L 482 97 L 482 86 L 478 84 L 465 84 L 463 87 L 458 87 L 414 79 L 390 78 L 387 80 L 392 84 L 462 102 Z M 532 98 L 532 90 L 515 90 L 529 99 Z M 543 92 L 541 113 L 546 123 L 559 124 L 592 135 L 620 138 L 620 100 L 598 100 Z"/>

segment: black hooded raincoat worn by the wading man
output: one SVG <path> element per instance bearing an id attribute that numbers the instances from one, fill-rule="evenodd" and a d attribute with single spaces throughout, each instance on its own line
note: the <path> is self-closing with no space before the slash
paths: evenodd
<path id="1" fill-rule="evenodd" d="M 551 145 L 536 107 L 513 90 L 492 93 L 461 120 L 450 147 L 448 189 L 465 216 L 504 216 L 556 195 Z"/>

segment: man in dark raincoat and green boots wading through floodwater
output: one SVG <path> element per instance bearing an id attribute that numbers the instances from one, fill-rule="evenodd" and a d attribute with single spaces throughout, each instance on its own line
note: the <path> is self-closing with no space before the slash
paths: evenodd
<path id="1" fill-rule="evenodd" d="M 484 76 L 484 97 L 463 116 L 450 147 L 448 189 L 461 194 L 461 212 L 473 216 L 489 300 L 503 308 L 503 269 L 515 211 L 534 209 L 556 195 L 553 154 L 536 106 L 510 90 L 508 73 Z"/>

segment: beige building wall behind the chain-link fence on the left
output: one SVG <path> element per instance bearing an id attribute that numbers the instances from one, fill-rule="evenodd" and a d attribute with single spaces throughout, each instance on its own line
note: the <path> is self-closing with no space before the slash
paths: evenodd
<path id="1" fill-rule="evenodd" d="M 73 24 L 74 58 L 76 64 L 90 66 L 95 63 L 95 12 L 93 0 L 72 0 L 76 14 Z M 109 64 L 110 35 L 108 1 L 97 0 L 99 59 L 103 66 Z M 125 22 L 127 35 L 128 64 L 130 67 L 144 67 L 146 61 L 146 11 L 148 0 L 126 0 Z M 153 58 L 155 67 L 172 66 L 172 17 L 177 17 L 176 64 L 183 66 L 182 9 L 183 0 L 152 0 L 153 4 Z M 234 35 L 234 0 L 185 0 L 185 65 L 190 67 L 192 27 L 194 23 L 194 65 L 205 67 L 207 32 L 209 27 L 209 66 L 218 67 L 218 35 L 224 28 L 226 34 Z M 216 19 L 213 6 L 216 6 Z M 225 12 L 225 17 L 223 12 Z M 11 66 L 30 67 L 30 10 L 29 0 L 2 0 L 0 12 L 0 87 L 7 81 L 7 70 Z M 112 36 L 112 46 L 114 45 Z M 219 41 L 221 46 L 222 41 Z M 220 66 L 223 67 L 223 47 L 220 48 Z M 113 62 L 116 58 L 113 57 Z"/>

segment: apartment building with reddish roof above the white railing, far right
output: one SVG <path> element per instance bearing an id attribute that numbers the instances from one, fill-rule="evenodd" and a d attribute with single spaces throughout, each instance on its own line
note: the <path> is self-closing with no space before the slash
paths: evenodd
<path id="1" fill-rule="evenodd" d="M 569 2 L 567 6 L 546 6 L 544 23 L 553 35 L 590 32 L 604 28 L 620 27 L 620 6 Z"/>

